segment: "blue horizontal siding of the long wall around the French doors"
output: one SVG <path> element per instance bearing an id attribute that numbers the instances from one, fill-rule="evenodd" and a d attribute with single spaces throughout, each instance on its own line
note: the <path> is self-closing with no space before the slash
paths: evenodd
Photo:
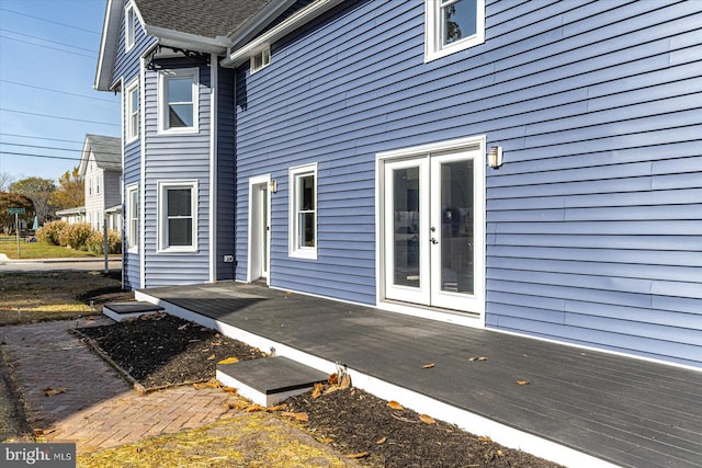
<path id="1" fill-rule="evenodd" d="M 237 277 L 271 173 L 272 285 L 375 304 L 375 155 L 485 134 L 488 327 L 702 366 L 700 4 L 487 3 L 485 44 L 428 64 L 423 1 L 365 0 L 238 70 Z M 310 162 L 303 261 L 287 169 Z"/>

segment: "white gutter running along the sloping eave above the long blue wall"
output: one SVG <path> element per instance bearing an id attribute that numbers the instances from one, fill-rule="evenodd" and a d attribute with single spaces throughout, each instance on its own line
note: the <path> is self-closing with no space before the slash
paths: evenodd
<path id="1" fill-rule="evenodd" d="M 342 2 L 343 0 L 317 0 L 314 3 L 308 4 L 256 39 L 246 43 L 237 49 L 229 49 L 227 52 L 227 57 L 223 59 L 219 65 L 222 67 L 229 68 L 238 67 L 248 60 L 253 53 L 260 50 L 261 47 L 270 45 L 271 43 L 286 36 Z"/>

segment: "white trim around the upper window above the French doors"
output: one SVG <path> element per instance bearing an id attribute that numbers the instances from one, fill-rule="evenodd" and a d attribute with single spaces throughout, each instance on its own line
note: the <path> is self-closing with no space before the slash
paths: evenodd
<path id="1" fill-rule="evenodd" d="M 424 0 L 424 62 L 465 50 L 485 42 L 485 0 L 476 2 L 476 33 L 443 46 L 441 38 L 441 2 Z"/>

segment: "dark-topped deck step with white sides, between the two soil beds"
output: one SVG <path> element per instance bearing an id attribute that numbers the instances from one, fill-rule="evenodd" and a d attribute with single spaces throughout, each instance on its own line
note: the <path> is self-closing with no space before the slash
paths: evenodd
<path id="1" fill-rule="evenodd" d="M 217 380 L 263 407 L 304 393 L 328 377 L 284 356 L 217 364 Z"/>

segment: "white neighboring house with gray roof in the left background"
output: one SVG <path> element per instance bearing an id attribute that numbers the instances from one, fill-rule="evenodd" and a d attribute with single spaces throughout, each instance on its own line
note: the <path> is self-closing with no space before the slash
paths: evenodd
<path id="1" fill-rule="evenodd" d="M 84 222 L 95 231 L 122 231 L 122 139 L 102 135 L 86 135 L 79 168 L 86 184 Z"/>

